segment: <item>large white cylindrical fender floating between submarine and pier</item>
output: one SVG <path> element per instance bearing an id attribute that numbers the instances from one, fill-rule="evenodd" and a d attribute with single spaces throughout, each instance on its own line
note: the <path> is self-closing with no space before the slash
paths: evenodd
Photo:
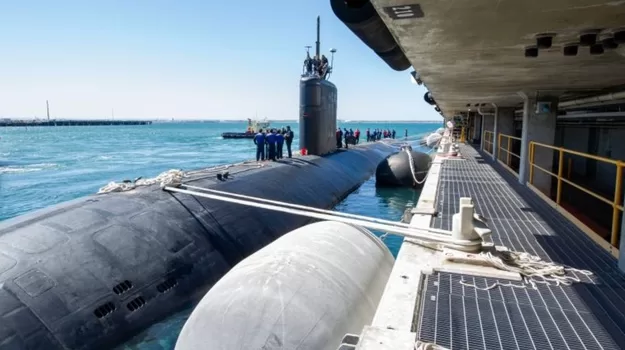
<path id="1" fill-rule="evenodd" d="M 393 263 L 362 227 L 322 221 L 291 231 L 206 293 L 176 350 L 336 350 L 373 319 Z"/>

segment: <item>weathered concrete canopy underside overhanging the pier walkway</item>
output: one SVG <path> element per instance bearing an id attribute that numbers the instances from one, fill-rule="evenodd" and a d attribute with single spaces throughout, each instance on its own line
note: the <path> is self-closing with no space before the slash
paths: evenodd
<path id="1" fill-rule="evenodd" d="M 583 31 L 597 42 L 625 27 L 625 1 L 371 0 L 445 115 L 475 104 L 517 106 L 519 92 L 573 97 L 625 84 L 625 44 L 601 55 L 579 46 Z M 422 17 L 393 19 L 391 7 L 419 5 Z M 538 57 L 524 56 L 536 35 L 555 34 Z"/>

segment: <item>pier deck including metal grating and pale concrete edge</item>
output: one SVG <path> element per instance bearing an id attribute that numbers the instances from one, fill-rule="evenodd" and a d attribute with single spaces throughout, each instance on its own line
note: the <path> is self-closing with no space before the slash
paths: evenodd
<path id="1" fill-rule="evenodd" d="M 625 275 L 617 260 L 500 164 L 460 147 L 462 160 L 437 156 L 417 205 L 438 214 L 417 214 L 413 225 L 450 230 L 459 198 L 472 197 L 496 245 L 593 275 L 572 272 L 581 281 L 570 286 L 481 290 L 522 282 L 437 272 L 440 256 L 406 239 L 358 349 L 413 349 L 415 340 L 450 349 L 625 348 Z"/>

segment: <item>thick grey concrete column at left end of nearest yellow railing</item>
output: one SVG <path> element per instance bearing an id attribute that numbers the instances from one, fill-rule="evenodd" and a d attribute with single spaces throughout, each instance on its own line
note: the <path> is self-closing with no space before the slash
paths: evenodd
<path id="1" fill-rule="evenodd" d="M 551 101 L 551 113 L 536 113 L 536 98 L 524 96 L 523 131 L 521 135 L 521 164 L 519 183 L 525 185 L 529 181 L 529 143 L 530 141 L 553 145 L 556 136 L 556 115 L 558 102 L 554 98 L 540 98 L 540 101 Z M 534 153 L 534 164 L 553 173 L 553 151 L 545 147 L 537 147 Z M 546 195 L 551 193 L 552 176 L 539 169 L 534 169 L 534 187 Z"/>

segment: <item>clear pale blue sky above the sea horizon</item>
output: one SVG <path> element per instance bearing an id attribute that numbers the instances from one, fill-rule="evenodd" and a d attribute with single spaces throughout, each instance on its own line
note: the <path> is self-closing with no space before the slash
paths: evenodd
<path id="1" fill-rule="evenodd" d="M 317 15 L 340 119 L 440 120 L 328 0 L 2 1 L 0 118 L 296 119 Z"/>

